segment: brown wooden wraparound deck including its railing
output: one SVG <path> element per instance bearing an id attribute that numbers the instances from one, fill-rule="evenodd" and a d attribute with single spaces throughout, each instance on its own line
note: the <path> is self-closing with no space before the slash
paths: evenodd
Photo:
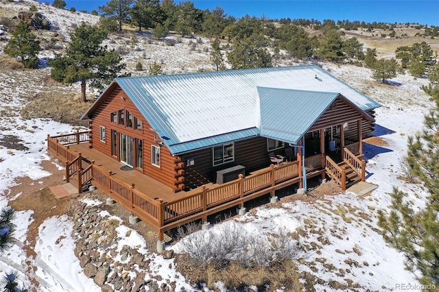
<path id="1" fill-rule="evenodd" d="M 302 181 L 302 160 L 271 165 L 225 184 L 206 184 L 191 191 L 174 191 L 161 182 L 126 166 L 90 147 L 88 133 L 47 136 L 48 151 L 66 165 L 66 179 L 75 178 L 78 191 L 93 184 L 132 215 L 152 226 L 163 240 L 165 231 L 182 224 L 232 208 L 243 207 L 250 199 L 274 192 Z M 326 162 L 326 165 L 325 165 Z M 364 166 L 364 165 L 363 165 Z M 330 170 L 346 187 L 340 173 L 343 167 L 329 169 L 327 157 L 317 154 L 305 159 L 307 178 Z M 364 170 L 363 170 L 364 173 Z"/>

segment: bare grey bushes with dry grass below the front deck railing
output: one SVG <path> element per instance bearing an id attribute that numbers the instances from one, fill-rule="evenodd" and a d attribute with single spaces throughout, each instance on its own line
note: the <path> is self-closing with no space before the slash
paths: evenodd
<path id="1" fill-rule="evenodd" d="M 259 291 L 300 291 L 293 261 L 299 250 L 295 238 L 281 231 L 261 239 L 238 224 L 226 224 L 215 232 L 194 232 L 180 239 L 182 254 L 176 258 L 176 267 L 191 282 L 206 283 L 210 289 L 218 289 L 216 283 L 222 282 L 238 291 L 249 286 Z"/>

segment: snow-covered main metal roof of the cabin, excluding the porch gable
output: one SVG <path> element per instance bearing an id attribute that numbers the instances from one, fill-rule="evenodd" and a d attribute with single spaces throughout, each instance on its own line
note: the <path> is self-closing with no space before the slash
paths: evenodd
<path id="1" fill-rule="evenodd" d="M 257 86 L 341 93 L 361 110 L 380 106 L 316 65 L 121 77 L 115 82 L 158 135 L 166 137 L 173 154 L 225 143 L 257 128 Z"/>

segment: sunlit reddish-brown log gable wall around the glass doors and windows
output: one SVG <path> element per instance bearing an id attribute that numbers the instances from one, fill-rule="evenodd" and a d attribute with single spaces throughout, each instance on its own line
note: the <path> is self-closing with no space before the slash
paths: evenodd
<path id="1" fill-rule="evenodd" d="M 107 90 L 108 97 L 106 97 L 104 102 L 93 112 L 91 130 L 93 137 L 93 148 L 101 151 L 102 153 L 113 157 L 116 160 L 120 161 L 120 146 L 119 146 L 119 133 L 126 134 L 134 138 L 134 166 L 133 169 L 135 171 L 140 171 L 141 173 L 154 178 L 155 180 L 162 182 L 163 184 L 170 186 L 174 189 L 174 191 L 179 191 L 184 186 L 182 185 L 182 179 L 179 180 L 181 175 L 182 165 L 180 165 L 180 160 L 178 158 L 174 158 L 171 155 L 169 149 L 163 146 L 160 148 L 161 151 L 161 162 L 160 167 L 152 165 L 151 163 L 151 153 L 152 153 L 152 145 L 157 145 L 154 141 L 154 132 L 150 130 L 150 124 L 147 123 L 143 115 L 139 112 L 136 106 L 132 103 L 132 101 L 128 98 L 126 93 L 121 90 L 118 86 L 114 90 Z M 122 98 L 123 97 L 123 98 Z M 111 113 L 118 112 L 119 110 L 126 110 L 132 113 L 132 123 L 133 127 L 128 127 L 125 125 L 120 125 L 119 123 L 115 123 L 111 121 Z M 125 114 L 126 116 L 126 114 Z M 134 117 L 141 120 L 142 122 L 142 130 L 134 129 Z M 125 117 L 126 119 L 126 117 Z M 106 132 L 106 141 L 105 143 L 100 141 L 99 139 L 99 131 L 100 126 L 105 127 Z M 112 156 L 112 140 L 111 140 L 111 130 L 117 131 L 117 156 Z M 136 154 L 137 149 L 135 145 L 135 139 L 141 139 L 143 142 L 143 169 L 139 168 L 136 165 Z M 160 137 L 158 137 L 158 141 Z"/>

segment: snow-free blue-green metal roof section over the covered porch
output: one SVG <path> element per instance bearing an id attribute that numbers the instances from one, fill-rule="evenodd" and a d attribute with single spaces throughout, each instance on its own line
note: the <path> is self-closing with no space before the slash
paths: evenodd
<path id="1" fill-rule="evenodd" d="M 338 93 L 258 87 L 261 136 L 297 144 Z"/>

